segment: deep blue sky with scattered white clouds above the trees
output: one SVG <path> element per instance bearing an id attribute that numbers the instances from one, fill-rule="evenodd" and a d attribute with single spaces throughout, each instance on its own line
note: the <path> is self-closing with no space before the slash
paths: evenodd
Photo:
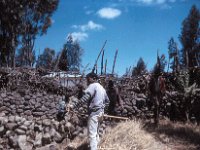
<path id="1" fill-rule="evenodd" d="M 200 0 L 60 0 L 51 27 L 37 37 L 35 50 L 41 54 L 48 47 L 59 52 L 71 34 L 84 50 L 81 69 L 87 64 L 90 69 L 107 40 L 104 60 L 108 73 L 116 49 L 116 74 L 123 75 L 126 68 L 136 66 L 140 57 L 151 70 L 157 51 L 168 60 L 171 37 L 181 49 L 182 22 L 194 4 L 200 9 Z M 99 73 L 100 63 L 101 58 Z"/>

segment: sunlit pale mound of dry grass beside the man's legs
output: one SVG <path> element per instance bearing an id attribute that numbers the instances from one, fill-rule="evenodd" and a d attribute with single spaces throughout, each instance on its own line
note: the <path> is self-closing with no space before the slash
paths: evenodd
<path id="1" fill-rule="evenodd" d="M 143 130 L 140 121 L 128 121 L 109 130 L 102 139 L 100 148 L 114 150 L 159 150 L 167 149 L 161 142 Z"/>

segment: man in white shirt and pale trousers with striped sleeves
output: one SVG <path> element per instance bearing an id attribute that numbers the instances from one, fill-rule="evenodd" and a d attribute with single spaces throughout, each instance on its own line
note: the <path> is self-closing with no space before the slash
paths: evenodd
<path id="1" fill-rule="evenodd" d="M 78 103 L 71 106 L 71 108 L 79 107 L 83 103 L 88 104 L 88 135 L 90 141 L 90 149 L 97 150 L 99 142 L 98 126 L 99 121 L 103 117 L 104 108 L 109 104 L 109 98 L 106 94 L 106 90 L 101 84 L 97 82 L 98 76 L 91 72 L 87 74 L 88 88 L 85 90 L 85 94 L 78 101 Z"/>

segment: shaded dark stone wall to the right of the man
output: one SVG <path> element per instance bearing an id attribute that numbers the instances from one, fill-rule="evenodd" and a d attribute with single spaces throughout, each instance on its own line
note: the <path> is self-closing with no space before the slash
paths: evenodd
<path id="1" fill-rule="evenodd" d="M 121 87 L 124 108 L 117 107 L 117 115 L 129 118 L 153 117 L 154 106 L 148 92 L 149 76 L 122 78 L 118 82 Z M 172 77 L 172 75 L 166 76 L 166 93 L 161 101 L 160 115 L 162 117 L 172 117 L 176 120 L 185 120 L 187 113 L 190 117 L 188 119 L 199 120 L 200 122 L 200 117 L 197 115 L 200 113 L 199 109 L 197 109 L 200 107 L 200 89 L 192 87 L 193 89 L 189 90 L 191 89 L 190 87 L 187 89 L 190 92 L 184 93 L 184 87 L 177 88 L 181 84 L 175 83 Z"/>

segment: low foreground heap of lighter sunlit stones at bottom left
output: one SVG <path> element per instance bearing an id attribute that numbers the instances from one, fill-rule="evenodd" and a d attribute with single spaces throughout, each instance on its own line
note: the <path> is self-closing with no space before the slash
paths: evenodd
<path id="1" fill-rule="evenodd" d="M 51 143 L 61 143 L 64 139 L 70 139 L 71 134 L 75 132 L 77 129 L 67 120 L 27 120 L 20 116 L 6 116 L 1 113 L 0 149 L 31 150 Z"/>

